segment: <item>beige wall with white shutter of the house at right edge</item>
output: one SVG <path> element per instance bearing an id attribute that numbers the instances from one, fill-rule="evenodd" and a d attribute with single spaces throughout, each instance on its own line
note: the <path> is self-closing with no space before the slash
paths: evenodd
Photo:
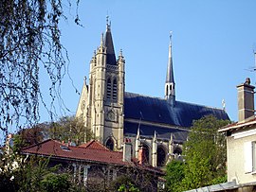
<path id="1" fill-rule="evenodd" d="M 256 142 L 256 126 L 252 129 L 232 131 L 228 137 L 228 182 L 251 183 L 256 181 L 256 171 L 253 170 Z M 254 157 L 253 157 L 254 156 Z M 255 166 L 255 165 L 254 165 Z"/>

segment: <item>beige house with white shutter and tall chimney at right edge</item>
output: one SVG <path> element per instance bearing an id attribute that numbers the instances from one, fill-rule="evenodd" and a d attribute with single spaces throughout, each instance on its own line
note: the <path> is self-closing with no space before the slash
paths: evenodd
<path id="1" fill-rule="evenodd" d="M 250 79 L 237 86 L 238 122 L 220 128 L 227 135 L 228 183 L 220 183 L 187 192 L 256 191 L 256 117 L 254 86 Z"/>

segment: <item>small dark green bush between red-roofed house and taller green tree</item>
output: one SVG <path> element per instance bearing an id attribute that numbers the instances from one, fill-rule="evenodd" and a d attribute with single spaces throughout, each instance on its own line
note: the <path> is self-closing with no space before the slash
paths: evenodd
<path id="1" fill-rule="evenodd" d="M 168 191 L 178 191 L 180 182 L 184 178 L 184 163 L 172 161 L 166 166 L 166 187 Z"/>

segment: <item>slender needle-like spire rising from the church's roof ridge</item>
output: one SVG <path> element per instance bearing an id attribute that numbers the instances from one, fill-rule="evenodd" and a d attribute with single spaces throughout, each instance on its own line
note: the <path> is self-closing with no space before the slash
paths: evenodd
<path id="1" fill-rule="evenodd" d="M 174 68 L 173 68 L 173 56 L 172 56 L 172 35 L 170 32 L 170 44 L 169 44 L 169 56 L 168 66 L 165 81 L 165 98 L 171 105 L 175 105 L 175 82 L 174 82 Z"/>

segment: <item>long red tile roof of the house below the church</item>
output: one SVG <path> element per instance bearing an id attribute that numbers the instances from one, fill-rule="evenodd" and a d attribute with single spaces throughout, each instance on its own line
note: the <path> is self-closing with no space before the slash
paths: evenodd
<path id="1" fill-rule="evenodd" d="M 66 146 L 65 144 L 48 139 L 39 144 L 22 149 L 23 154 L 37 154 L 52 158 L 68 159 L 74 161 L 95 162 L 101 164 L 113 164 L 117 166 L 137 166 L 141 169 L 153 171 L 163 175 L 163 172 L 153 166 L 141 166 L 136 161 L 129 163 L 122 161 L 122 152 L 112 151 L 105 148 L 97 141 L 90 141 L 78 147 Z"/>

